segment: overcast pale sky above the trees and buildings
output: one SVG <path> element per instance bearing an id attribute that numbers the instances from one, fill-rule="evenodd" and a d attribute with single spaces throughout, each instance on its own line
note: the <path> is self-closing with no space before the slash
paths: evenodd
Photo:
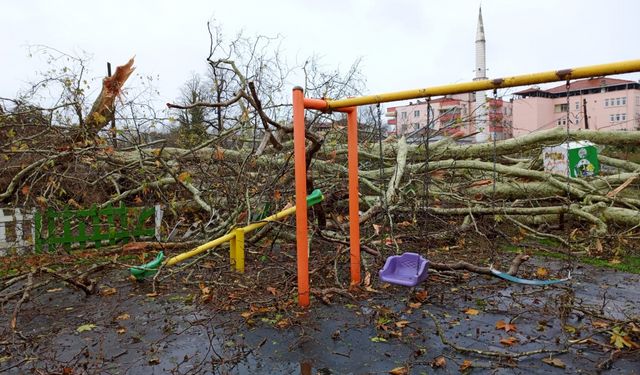
<path id="1" fill-rule="evenodd" d="M 92 60 L 89 77 L 136 56 L 158 76 L 163 101 L 206 69 L 206 23 L 228 36 L 281 35 L 291 64 L 322 57 L 348 69 L 362 58 L 367 93 L 473 78 L 477 0 L 0 0 L 0 96 L 13 97 L 46 65 L 28 45 Z M 484 0 L 490 78 L 640 58 L 638 0 Z M 640 74 L 623 76 L 638 80 Z M 135 85 L 136 82 L 130 84 Z M 301 82 L 291 82 L 291 85 Z M 93 85 L 97 87 L 97 85 Z"/>

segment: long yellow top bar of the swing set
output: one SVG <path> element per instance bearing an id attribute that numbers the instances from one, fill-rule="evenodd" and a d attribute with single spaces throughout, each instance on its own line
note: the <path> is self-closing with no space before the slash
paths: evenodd
<path id="1" fill-rule="evenodd" d="M 632 73 L 640 71 L 640 60 L 620 61 L 609 64 L 583 66 L 574 69 L 554 70 L 542 73 L 524 74 L 519 76 L 485 79 L 480 81 L 453 83 L 449 85 L 434 86 L 423 89 L 391 92 L 378 95 L 367 95 L 356 98 L 339 100 L 327 100 L 326 109 L 339 109 L 345 107 L 387 103 L 398 100 L 426 98 L 430 96 L 461 94 L 482 90 L 491 90 L 504 87 L 534 85 L 569 79 L 590 78 L 611 74 Z"/>

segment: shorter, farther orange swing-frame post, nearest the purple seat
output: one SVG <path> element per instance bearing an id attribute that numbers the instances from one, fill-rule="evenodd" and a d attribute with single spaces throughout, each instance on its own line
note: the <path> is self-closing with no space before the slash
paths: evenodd
<path id="1" fill-rule="evenodd" d="M 358 107 L 347 112 L 351 285 L 360 284 L 360 198 L 358 194 Z"/>

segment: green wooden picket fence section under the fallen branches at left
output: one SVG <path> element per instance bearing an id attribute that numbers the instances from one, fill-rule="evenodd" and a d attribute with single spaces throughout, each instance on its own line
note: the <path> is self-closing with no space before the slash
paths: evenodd
<path id="1" fill-rule="evenodd" d="M 159 233 L 161 218 L 160 206 L 130 208 L 122 202 L 118 207 L 93 206 L 87 210 L 48 209 L 34 215 L 35 249 L 40 253 L 45 246 L 53 251 L 61 245 L 71 250 L 73 244 L 85 248 L 91 242 L 99 248 L 106 243 L 153 237 Z"/>

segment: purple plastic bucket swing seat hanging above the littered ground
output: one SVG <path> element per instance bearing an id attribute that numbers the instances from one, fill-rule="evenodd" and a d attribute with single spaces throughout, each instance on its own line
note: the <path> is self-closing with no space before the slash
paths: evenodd
<path id="1" fill-rule="evenodd" d="M 416 286 L 428 276 L 429 261 L 420 254 L 404 253 L 387 258 L 380 270 L 380 280 L 396 285 Z"/>

